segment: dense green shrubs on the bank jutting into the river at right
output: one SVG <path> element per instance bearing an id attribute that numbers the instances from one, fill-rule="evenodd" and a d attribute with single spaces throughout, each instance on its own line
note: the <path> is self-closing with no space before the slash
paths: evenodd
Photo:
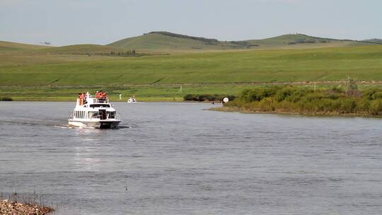
<path id="1" fill-rule="evenodd" d="M 236 100 L 218 110 L 273 112 L 303 115 L 382 115 L 382 90 L 357 90 L 357 86 L 314 91 L 296 86 L 271 86 L 244 90 Z"/>

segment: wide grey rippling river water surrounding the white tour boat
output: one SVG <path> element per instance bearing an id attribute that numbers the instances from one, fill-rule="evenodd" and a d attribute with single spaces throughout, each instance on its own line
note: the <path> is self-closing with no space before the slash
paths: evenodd
<path id="1" fill-rule="evenodd" d="M 381 119 L 117 103 L 120 129 L 67 127 L 74 103 L 0 103 L 0 192 L 55 214 L 381 214 Z"/>

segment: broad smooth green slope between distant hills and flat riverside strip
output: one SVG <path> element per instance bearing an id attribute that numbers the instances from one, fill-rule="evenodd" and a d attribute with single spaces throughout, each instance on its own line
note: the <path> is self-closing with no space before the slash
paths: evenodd
<path id="1" fill-rule="evenodd" d="M 66 57 L 73 57 L 71 55 Z M 94 86 L 151 83 L 250 83 L 382 80 L 382 46 L 87 57 L 83 61 L 0 66 L 0 85 Z M 57 59 L 59 61 L 59 59 Z"/>

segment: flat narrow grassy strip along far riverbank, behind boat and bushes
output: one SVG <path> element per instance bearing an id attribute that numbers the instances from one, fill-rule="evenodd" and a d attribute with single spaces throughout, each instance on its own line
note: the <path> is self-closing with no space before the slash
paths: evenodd
<path id="1" fill-rule="evenodd" d="M 360 90 L 382 88 L 378 81 L 357 81 Z M 263 86 L 295 86 L 325 90 L 337 86 L 345 86 L 346 81 L 314 81 L 314 82 L 269 82 L 269 83 L 197 83 L 197 84 L 158 84 L 129 86 L 0 86 L 0 100 L 11 98 L 13 101 L 73 101 L 78 93 L 94 94 L 96 91 L 108 92 L 110 101 L 127 101 L 135 95 L 142 102 L 183 102 L 186 95 L 240 95 L 248 88 Z M 122 94 L 122 100 L 120 100 Z"/>

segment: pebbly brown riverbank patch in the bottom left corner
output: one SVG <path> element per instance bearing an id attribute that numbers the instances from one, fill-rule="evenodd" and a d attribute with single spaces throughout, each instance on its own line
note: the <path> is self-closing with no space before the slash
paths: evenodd
<path id="1" fill-rule="evenodd" d="M 52 211 L 54 211 L 54 209 L 37 204 L 23 204 L 20 202 L 12 202 L 8 199 L 0 200 L 0 214 L 44 215 Z"/>

